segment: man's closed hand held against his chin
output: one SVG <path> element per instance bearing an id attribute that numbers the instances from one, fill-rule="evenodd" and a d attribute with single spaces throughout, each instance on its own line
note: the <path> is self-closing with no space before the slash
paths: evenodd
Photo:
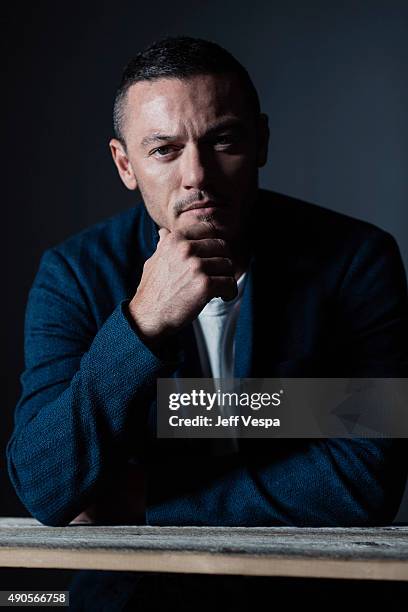
<path id="1" fill-rule="evenodd" d="M 224 240 L 208 237 L 207 223 L 183 234 L 160 229 L 153 256 L 143 275 L 129 312 L 142 337 L 160 341 L 191 323 L 214 297 L 232 300 L 237 295 L 234 267 Z"/>

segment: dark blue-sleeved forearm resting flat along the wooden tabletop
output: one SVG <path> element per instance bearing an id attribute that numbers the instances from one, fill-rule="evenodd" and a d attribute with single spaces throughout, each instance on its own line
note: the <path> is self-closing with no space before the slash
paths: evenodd
<path id="1" fill-rule="evenodd" d="M 174 462 L 171 469 L 152 466 L 148 524 L 335 527 L 392 522 L 407 472 L 403 441 L 302 442 L 290 452 L 237 459 L 224 470 L 219 458 L 196 463 L 189 473 Z"/>

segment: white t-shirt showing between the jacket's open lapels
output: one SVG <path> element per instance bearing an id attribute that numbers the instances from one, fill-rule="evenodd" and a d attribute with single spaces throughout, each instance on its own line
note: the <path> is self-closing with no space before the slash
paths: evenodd
<path id="1" fill-rule="evenodd" d="M 237 281 L 238 295 L 233 300 L 224 302 L 222 298 L 213 298 L 193 322 L 203 376 L 223 379 L 223 385 L 217 385 L 217 389 L 222 386 L 224 392 L 231 389 L 227 379 L 234 378 L 235 330 L 245 279 L 246 272 Z M 227 412 L 224 414 L 228 416 Z M 211 446 L 216 455 L 238 450 L 234 437 L 226 441 L 214 438 Z"/>

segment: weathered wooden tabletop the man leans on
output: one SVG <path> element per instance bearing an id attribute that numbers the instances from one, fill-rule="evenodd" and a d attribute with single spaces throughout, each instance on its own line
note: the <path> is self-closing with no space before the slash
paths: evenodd
<path id="1" fill-rule="evenodd" d="M 408 526 L 45 527 L 0 518 L 0 566 L 408 580 Z"/>

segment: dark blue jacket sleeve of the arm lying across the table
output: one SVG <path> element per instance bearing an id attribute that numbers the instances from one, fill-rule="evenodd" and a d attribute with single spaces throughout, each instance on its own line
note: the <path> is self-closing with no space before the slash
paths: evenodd
<path id="1" fill-rule="evenodd" d="M 360 242 L 337 300 L 354 375 L 406 377 L 406 278 L 389 234 L 373 229 Z M 252 442 L 254 452 L 229 465 L 219 459 L 196 460 L 189 470 L 181 462 L 151 465 L 148 523 L 319 527 L 394 519 L 407 477 L 404 439 Z"/>

